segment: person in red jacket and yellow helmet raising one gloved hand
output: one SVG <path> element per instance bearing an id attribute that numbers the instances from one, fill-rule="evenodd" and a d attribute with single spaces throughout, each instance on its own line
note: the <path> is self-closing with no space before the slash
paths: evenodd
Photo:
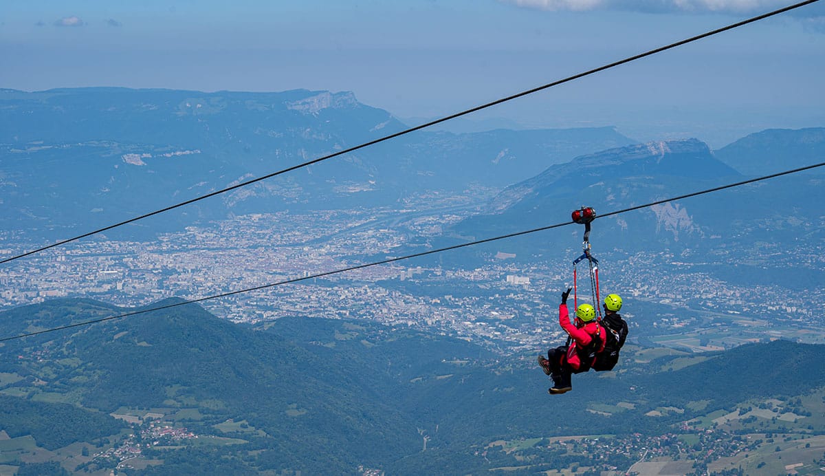
<path id="1" fill-rule="evenodd" d="M 576 319 L 570 322 L 567 299 L 571 288 L 562 293 L 559 304 L 559 326 L 568 333 L 568 345 L 547 351 L 548 358 L 539 356 L 539 365 L 545 375 L 553 379 L 550 394 L 563 394 L 573 389 L 571 375 L 587 372 L 596 354 L 604 350 L 605 330 L 596 320 L 596 309 L 591 304 L 582 304 L 576 309 Z"/>

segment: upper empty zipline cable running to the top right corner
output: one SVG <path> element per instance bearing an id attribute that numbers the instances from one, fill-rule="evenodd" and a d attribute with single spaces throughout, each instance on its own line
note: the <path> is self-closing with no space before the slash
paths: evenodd
<path id="1" fill-rule="evenodd" d="M 334 157 L 337 157 L 339 155 L 343 155 L 345 153 L 355 152 L 356 150 L 359 150 L 361 148 L 370 147 L 371 145 L 375 145 L 375 144 L 380 144 L 381 142 L 387 141 L 389 139 L 395 139 L 395 138 L 400 137 L 402 135 L 410 134 L 410 133 L 415 132 L 417 130 L 422 130 L 422 129 L 425 129 L 427 127 L 431 127 L 432 125 L 441 124 L 442 122 L 446 122 L 447 120 L 452 120 L 452 119 L 455 119 L 457 117 L 461 117 L 462 115 L 469 115 L 469 114 L 472 114 L 474 112 L 478 112 L 478 111 L 481 111 L 483 109 L 487 109 L 488 107 L 497 106 L 499 104 L 502 104 L 503 102 L 512 101 L 512 100 L 517 99 L 519 97 L 525 97 L 525 96 L 528 96 L 528 95 L 533 94 L 535 92 L 544 91 L 544 89 L 548 89 L 549 87 L 558 86 L 559 84 L 563 84 L 565 82 L 571 82 L 571 81 L 574 81 L 574 80 L 579 79 L 579 78 L 584 78 L 585 76 L 590 76 L 591 74 L 599 73 L 599 72 L 604 71 L 606 69 L 615 68 L 616 66 L 620 66 L 621 64 L 630 63 L 631 61 L 635 61 L 637 59 L 642 59 L 642 58 L 645 58 L 645 57 L 650 56 L 652 54 L 661 53 L 662 51 L 666 51 L 667 49 L 673 49 L 673 48 L 676 48 L 677 46 L 686 45 L 686 44 L 692 43 L 696 40 L 702 40 L 702 39 L 707 38 L 709 36 L 718 35 L 719 33 L 722 33 L 724 31 L 733 30 L 734 28 L 738 28 L 739 26 L 745 26 L 749 23 L 753 23 L 754 21 L 764 20 L 764 19 L 769 18 L 771 16 L 779 15 L 780 13 L 790 12 L 791 10 L 794 10 L 796 8 L 804 7 L 806 5 L 809 5 L 811 3 L 815 3 L 815 2 L 818 2 L 818 1 L 819 0 L 805 0 L 804 2 L 794 3 L 793 5 L 790 5 L 788 7 L 780 8 L 779 10 L 774 10 L 773 12 L 763 13 L 761 15 L 753 16 L 752 18 L 748 18 L 747 20 L 738 21 L 737 23 L 733 23 L 733 24 L 728 25 L 728 26 L 723 26 L 721 28 L 717 28 L 716 30 L 707 31 L 705 33 L 702 33 L 701 35 L 691 36 L 690 38 L 687 38 L 686 40 L 680 40 L 680 41 L 676 41 L 676 43 L 671 43 L 670 45 L 661 46 L 661 47 L 656 48 L 656 49 L 650 49 L 649 51 L 646 51 L 644 53 L 636 54 L 634 56 L 629 56 L 628 58 L 620 59 L 619 61 L 615 61 L 615 62 L 610 63 L 610 64 L 605 64 L 605 65 L 600 66 L 598 68 L 593 68 L 593 69 L 587 70 L 583 73 L 577 73 L 577 74 L 574 74 L 573 76 L 570 76 L 568 78 L 559 79 L 558 81 L 549 82 L 549 83 L 544 84 L 544 85 L 539 86 L 539 87 L 534 87 L 534 88 L 528 89 L 526 91 L 517 92 L 516 94 L 513 94 L 511 96 L 502 97 L 501 99 L 497 99 L 496 101 L 488 102 L 488 103 L 483 104 L 481 106 L 475 106 L 475 107 L 467 109 L 465 111 L 456 112 L 455 114 L 452 114 L 452 115 L 447 115 L 445 117 L 442 117 L 441 119 L 431 120 L 430 122 L 424 123 L 422 125 L 417 125 L 415 127 L 411 127 L 409 129 L 396 132 L 394 134 L 385 135 L 384 137 L 380 137 L 379 139 L 370 140 L 369 142 L 365 142 L 363 144 L 359 144 L 359 145 L 356 145 L 356 146 L 351 147 L 351 148 L 345 148 L 345 149 L 340 150 L 336 153 L 330 153 L 328 155 L 324 155 L 323 157 L 315 158 L 314 160 L 310 160 L 310 161 L 307 161 L 307 162 L 304 162 L 304 163 L 299 163 L 299 164 L 296 164 L 292 167 L 287 167 L 285 169 L 279 170 L 278 172 L 272 172 L 272 173 L 270 173 L 268 175 L 265 175 L 265 176 L 262 176 L 262 177 L 257 177 L 257 178 L 253 178 L 253 179 L 248 180 L 248 181 L 243 181 L 241 183 L 238 183 L 238 184 L 233 185 L 233 186 L 226 187 L 226 188 L 221 189 L 219 191 L 213 191 L 213 192 L 208 193 L 208 194 L 203 195 L 203 196 L 197 196 L 196 198 L 193 198 L 191 200 L 181 201 L 181 203 L 178 203 L 176 205 L 170 205 L 170 206 L 167 206 L 166 208 L 163 208 L 163 209 L 160 209 L 160 210 L 155 210 L 155 211 L 149 212 L 147 214 L 142 214 L 142 215 L 134 217 L 132 219 L 126 219 L 126 220 L 121 221 L 119 223 L 111 224 L 111 225 L 106 226 L 104 228 L 96 229 L 96 230 L 88 232 L 88 233 L 83 233 L 83 234 L 78 235 L 78 236 L 73 237 L 73 238 L 67 238 L 67 239 L 59 241 L 57 243 L 52 243 L 50 245 L 47 245 L 45 247 L 39 247 L 39 248 L 31 250 L 29 252 L 24 252 L 22 254 L 19 254 L 19 255 L 13 256 L 13 257 L 8 257 L 8 258 L 5 258 L 3 260 L 0 260 L 0 264 L 6 263 L 6 262 L 12 262 L 12 261 L 14 261 L 16 259 L 19 259 L 21 257 L 27 257 L 27 256 L 33 255 L 35 253 L 38 253 L 38 252 L 43 252 L 43 251 L 45 251 L 47 249 L 50 249 L 50 248 L 53 248 L 53 247 L 59 247 L 59 246 L 64 245 L 66 243 L 72 243 L 72 242 L 77 241 L 81 238 L 87 238 L 87 237 L 92 236 L 94 234 L 102 233 L 102 232 L 105 232 L 105 231 L 111 230 L 111 229 L 115 229 L 115 228 L 118 228 L 118 227 L 123 226 L 125 224 L 134 223 L 134 222 L 136 222 L 140 219 L 145 219 L 145 218 L 148 218 L 148 217 L 156 215 L 156 214 L 162 214 L 162 213 L 167 212 L 169 210 L 175 210 L 175 209 L 177 209 L 181 206 L 191 205 L 191 204 L 195 203 L 196 201 L 205 200 L 207 198 L 217 196 L 217 195 L 226 193 L 228 191 L 233 191 L 233 190 L 238 189 L 238 188 L 243 187 L 243 186 L 252 185 L 253 183 L 256 183 L 258 181 L 266 180 L 267 178 L 271 178 L 271 177 L 276 177 L 276 176 L 279 176 L 279 175 L 284 174 L 286 172 L 292 172 L 296 169 L 299 169 L 299 168 L 302 168 L 302 167 L 307 167 L 307 166 L 312 165 L 314 163 L 320 163 L 320 162 L 323 162 L 323 161 L 328 160 L 330 158 L 334 158 Z"/>

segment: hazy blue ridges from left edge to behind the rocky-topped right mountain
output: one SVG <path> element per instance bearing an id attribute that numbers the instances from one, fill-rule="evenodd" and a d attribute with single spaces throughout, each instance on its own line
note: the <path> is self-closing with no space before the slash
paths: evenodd
<path id="1" fill-rule="evenodd" d="M 405 127 L 351 92 L 5 90 L 0 193 L 8 213 L 0 224 L 39 233 L 78 223 L 94 228 Z M 167 221 L 388 204 L 433 189 L 506 186 L 550 163 L 633 142 L 612 128 L 418 131 L 191 205 Z"/>

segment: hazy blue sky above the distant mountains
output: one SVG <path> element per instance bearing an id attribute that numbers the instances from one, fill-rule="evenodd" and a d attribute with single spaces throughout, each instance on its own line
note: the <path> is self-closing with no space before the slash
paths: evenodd
<path id="1" fill-rule="evenodd" d="M 790 4 L 775 0 L 2 0 L 0 87 L 352 91 L 409 123 Z M 825 126 L 825 0 L 485 111 L 721 146 Z"/>

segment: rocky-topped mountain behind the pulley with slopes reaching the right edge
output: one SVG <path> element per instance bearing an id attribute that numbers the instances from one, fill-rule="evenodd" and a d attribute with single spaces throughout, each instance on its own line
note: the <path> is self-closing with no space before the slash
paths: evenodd
<path id="1" fill-rule="evenodd" d="M 450 233 L 463 239 L 487 238 L 568 221 L 570 212 L 581 205 L 605 214 L 741 180 L 739 172 L 715 158 L 697 139 L 612 148 L 553 165 L 507 187 L 490 200 L 484 214 L 456 224 Z M 811 205 L 799 207 L 800 200 Z M 821 203 L 825 203 L 825 191 L 818 177 L 780 177 L 596 219 L 591 240 L 627 252 L 707 251 L 733 228 L 747 230 L 735 233 L 741 249 L 764 239 L 790 244 L 799 234 L 822 236 L 816 226 Z M 799 214 L 801 229 L 786 210 Z M 516 238 L 507 246 L 510 251 L 527 248 L 536 252 L 574 243 L 568 233 L 544 233 Z"/>

